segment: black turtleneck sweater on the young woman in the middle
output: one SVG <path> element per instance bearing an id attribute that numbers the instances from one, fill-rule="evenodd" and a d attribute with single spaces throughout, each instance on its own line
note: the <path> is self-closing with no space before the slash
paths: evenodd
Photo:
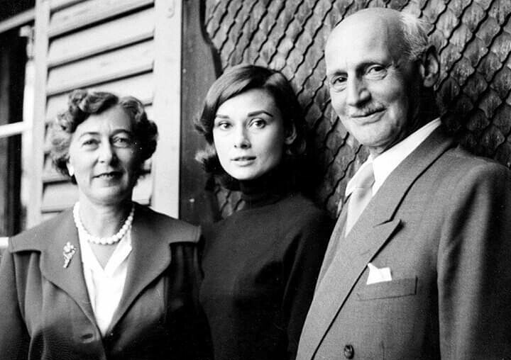
<path id="1" fill-rule="evenodd" d="M 295 359 L 333 223 L 282 187 L 242 183 L 245 208 L 204 230 L 200 300 L 215 360 Z"/>

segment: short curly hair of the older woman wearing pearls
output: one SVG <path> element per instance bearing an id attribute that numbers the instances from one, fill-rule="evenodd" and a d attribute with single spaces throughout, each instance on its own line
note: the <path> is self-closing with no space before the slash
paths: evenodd
<path id="1" fill-rule="evenodd" d="M 126 111 L 133 122 L 133 133 L 136 137 L 137 150 L 143 160 L 149 159 L 156 150 L 158 141 L 158 127 L 149 120 L 143 103 L 133 96 L 119 98 L 115 94 L 105 91 L 88 91 L 77 89 L 70 93 L 67 101 L 67 110 L 59 113 L 50 124 L 50 155 L 55 168 L 65 176 L 70 176 L 67 171 L 69 160 L 69 148 L 72 134 L 78 125 L 83 123 L 89 116 L 102 113 L 109 108 L 120 106 Z M 141 171 L 139 171 L 141 174 Z M 74 183 L 75 177 L 71 176 Z"/>

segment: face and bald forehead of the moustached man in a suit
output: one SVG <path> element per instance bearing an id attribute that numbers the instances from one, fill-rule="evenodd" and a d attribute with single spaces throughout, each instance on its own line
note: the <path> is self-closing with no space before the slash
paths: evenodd
<path id="1" fill-rule="evenodd" d="M 402 58 L 392 19 L 351 16 L 325 49 L 331 104 L 349 133 L 378 155 L 413 127 L 417 66 Z"/>

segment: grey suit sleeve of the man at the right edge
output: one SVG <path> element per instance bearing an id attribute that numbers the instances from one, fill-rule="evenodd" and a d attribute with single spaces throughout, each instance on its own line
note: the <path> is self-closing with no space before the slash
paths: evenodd
<path id="1" fill-rule="evenodd" d="M 441 359 L 511 359 L 510 186 L 507 169 L 485 165 L 451 194 L 437 262 Z"/>

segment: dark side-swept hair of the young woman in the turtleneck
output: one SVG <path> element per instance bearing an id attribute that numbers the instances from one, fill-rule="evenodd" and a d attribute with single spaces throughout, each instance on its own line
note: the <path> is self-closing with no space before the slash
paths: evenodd
<path id="1" fill-rule="evenodd" d="M 290 145 L 285 145 L 282 163 L 288 174 L 297 176 L 302 156 L 307 147 L 305 120 L 302 107 L 289 81 L 280 72 L 256 65 L 241 64 L 226 69 L 224 74 L 214 81 L 207 92 L 204 107 L 195 128 L 204 136 L 207 145 L 199 150 L 195 159 L 202 164 L 204 171 L 216 176 L 221 184 L 229 189 L 237 189 L 238 181 L 233 179 L 221 167 L 213 141 L 213 125 L 216 111 L 225 101 L 252 89 L 268 91 L 282 114 L 285 130 L 295 127 L 296 137 Z M 291 167 L 291 169 L 290 169 Z M 293 179 L 294 182 L 295 179 Z"/>

